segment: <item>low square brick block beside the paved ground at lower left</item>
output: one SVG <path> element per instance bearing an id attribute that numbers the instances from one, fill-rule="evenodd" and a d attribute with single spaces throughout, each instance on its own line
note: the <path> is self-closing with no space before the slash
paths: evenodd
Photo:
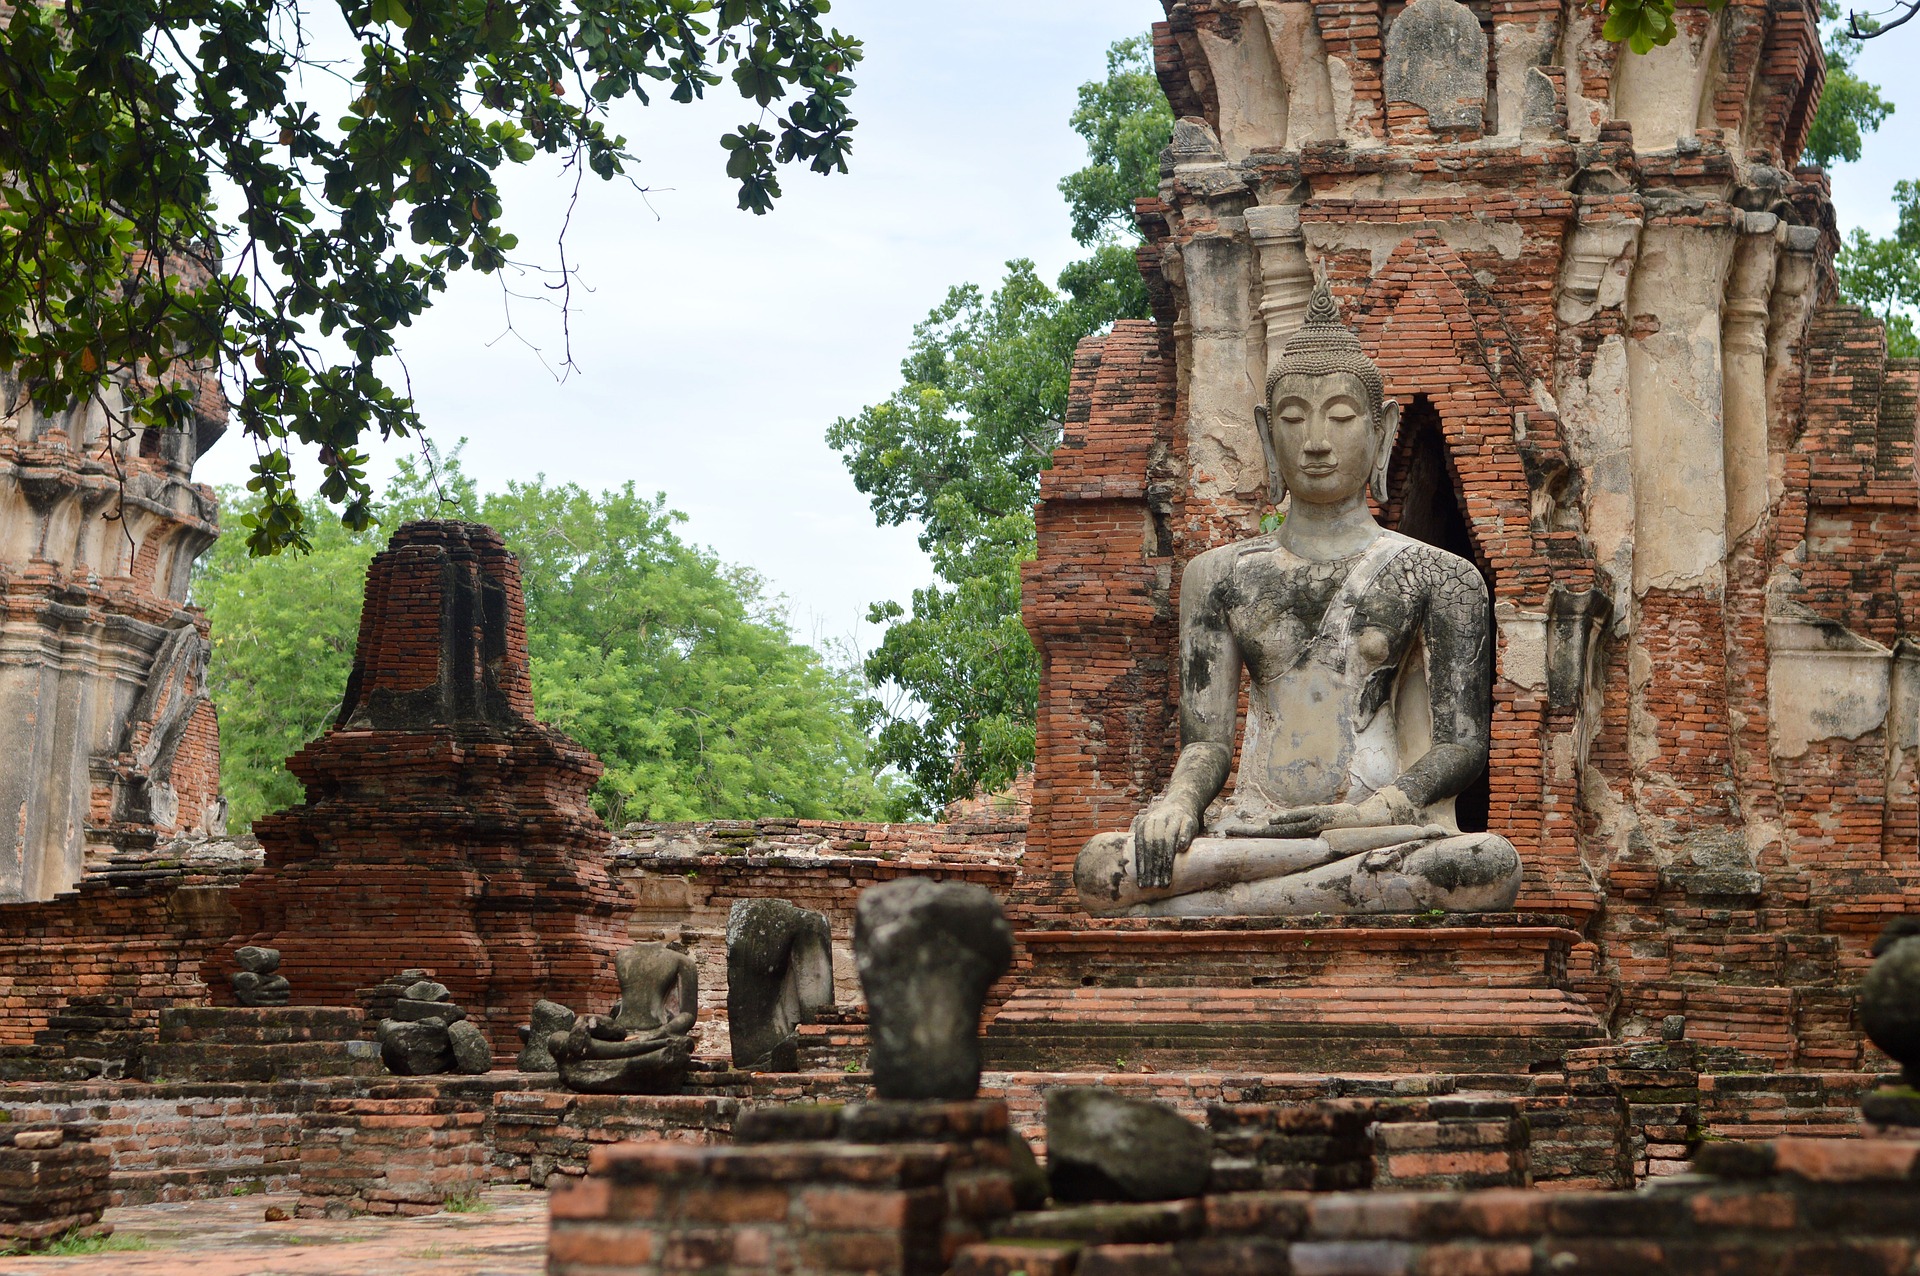
<path id="1" fill-rule="evenodd" d="M 488 1186 L 486 1111 L 445 1098 L 324 1099 L 301 1119 L 300 1217 L 430 1215 Z"/>

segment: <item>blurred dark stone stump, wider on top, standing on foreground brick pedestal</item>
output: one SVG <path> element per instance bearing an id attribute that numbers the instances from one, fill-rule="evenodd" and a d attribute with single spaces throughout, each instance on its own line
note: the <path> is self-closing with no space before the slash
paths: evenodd
<path id="1" fill-rule="evenodd" d="M 860 896 L 852 948 L 879 1098 L 972 1099 L 981 1005 L 1014 959 L 1000 902 L 973 883 L 881 883 Z"/>

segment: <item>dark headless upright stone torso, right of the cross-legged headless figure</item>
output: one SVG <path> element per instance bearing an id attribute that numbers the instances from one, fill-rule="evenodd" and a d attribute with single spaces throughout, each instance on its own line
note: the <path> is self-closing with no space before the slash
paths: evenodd
<path id="1" fill-rule="evenodd" d="M 833 931 L 787 900 L 735 900 L 726 919 L 726 1015 L 733 1067 L 799 1069 L 795 1028 L 833 1005 Z"/>

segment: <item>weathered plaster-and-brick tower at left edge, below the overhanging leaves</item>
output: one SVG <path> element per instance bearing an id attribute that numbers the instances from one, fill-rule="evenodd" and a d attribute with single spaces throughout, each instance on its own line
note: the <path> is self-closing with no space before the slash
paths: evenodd
<path id="1" fill-rule="evenodd" d="M 98 403 L 44 414 L 0 374 L 0 902 L 225 817 L 186 603 L 219 533 L 192 470 L 225 428 L 211 376 L 188 430 L 140 430 Z"/>

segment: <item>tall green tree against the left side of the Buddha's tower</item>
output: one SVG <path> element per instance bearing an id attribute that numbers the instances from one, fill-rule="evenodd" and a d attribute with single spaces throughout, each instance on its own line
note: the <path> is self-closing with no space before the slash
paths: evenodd
<path id="1" fill-rule="evenodd" d="M 1135 263 L 1133 201 L 1160 184 L 1173 113 L 1148 36 L 1108 50 L 1104 81 L 1079 90 L 1071 127 L 1091 163 L 1060 182 L 1073 238 L 1094 249 L 1048 288 L 1010 261 L 993 294 L 962 284 L 914 328 L 900 388 L 833 422 L 835 447 L 881 524 L 920 524 L 935 581 L 866 658 L 879 762 L 904 771 L 925 812 L 1010 783 L 1033 764 L 1039 656 L 1020 624 L 1020 564 L 1033 556 L 1033 503 L 1066 414 L 1073 347 L 1116 319 L 1148 317 Z"/>

